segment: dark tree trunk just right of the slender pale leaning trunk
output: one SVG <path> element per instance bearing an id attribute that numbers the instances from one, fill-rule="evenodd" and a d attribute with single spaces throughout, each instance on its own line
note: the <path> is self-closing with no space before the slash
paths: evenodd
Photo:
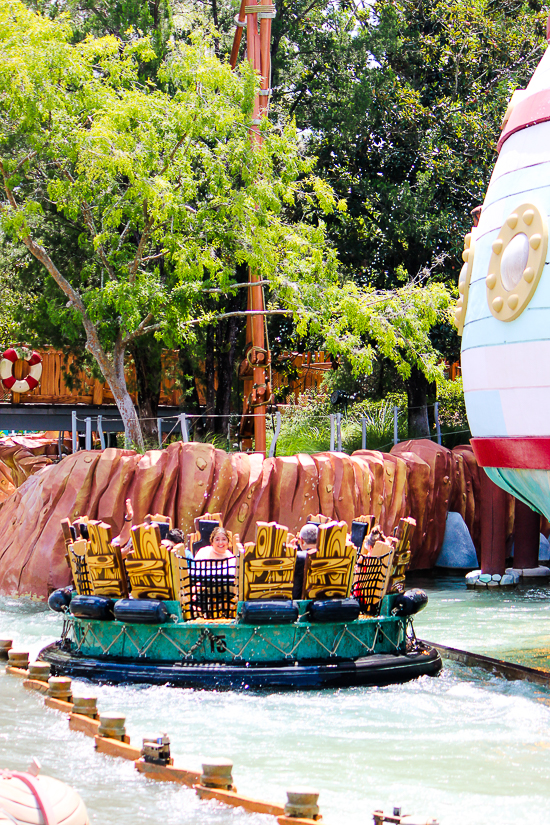
<path id="1" fill-rule="evenodd" d="M 162 377 L 162 344 L 149 333 L 130 344 L 136 367 L 137 401 L 141 431 L 148 446 L 158 444 L 158 408 Z"/>

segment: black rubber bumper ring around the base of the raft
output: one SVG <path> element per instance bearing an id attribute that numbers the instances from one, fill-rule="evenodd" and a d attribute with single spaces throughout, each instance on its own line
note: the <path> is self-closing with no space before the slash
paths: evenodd
<path id="1" fill-rule="evenodd" d="M 281 665 L 197 664 L 150 660 L 86 658 L 63 650 L 59 643 L 45 647 L 40 659 L 52 673 L 108 684 L 173 685 L 199 689 L 303 690 L 314 688 L 391 685 L 419 676 L 436 676 L 441 670 L 437 650 L 419 642 L 406 654 L 373 654 L 333 664 Z"/>

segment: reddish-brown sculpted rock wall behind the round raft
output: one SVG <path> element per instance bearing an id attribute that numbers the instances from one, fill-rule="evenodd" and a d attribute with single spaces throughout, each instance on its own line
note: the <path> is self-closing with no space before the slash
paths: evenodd
<path id="1" fill-rule="evenodd" d="M 351 456 L 262 459 L 177 442 L 144 455 L 115 449 L 78 452 L 48 466 L 47 450 L 32 464 L 27 455 L 32 451 L 18 459 L 13 444 L 5 442 L 0 440 L 0 471 L 7 467 L 14 487 L 26 480 L 0 503 L 3 594 L 46 597 L 67 584 L 60 520 L 87 515 L 108 522 L 117 534 L 128 497 L 134 523 L 160 512 L 190 532 L 196 516 L 222 512 L 224 524 L 243 541 L 254 538 L 257 521 L 275 520 L 295 532 L 310 513 L 348 523 L 374 513 L 386 532 L 403 516 L 412 516 L 418 527 L 411 569 L 433 567 L 447 511 L 453 510 L 463 516 L 479 549 L 480 470 L 469 446 L 451 451 L 431 441 L 408 441 L 389 454 L 360 450 Z"/>

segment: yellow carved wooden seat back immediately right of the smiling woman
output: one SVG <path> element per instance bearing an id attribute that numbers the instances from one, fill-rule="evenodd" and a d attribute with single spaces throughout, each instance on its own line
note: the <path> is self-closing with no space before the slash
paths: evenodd
<path id="1" fill-rule="evenodd" d="M 287 545 L 288 529 L 259 521 L 256 542 L 238 556 L 239 600 L 292 599 L 296 548 Z"/>

